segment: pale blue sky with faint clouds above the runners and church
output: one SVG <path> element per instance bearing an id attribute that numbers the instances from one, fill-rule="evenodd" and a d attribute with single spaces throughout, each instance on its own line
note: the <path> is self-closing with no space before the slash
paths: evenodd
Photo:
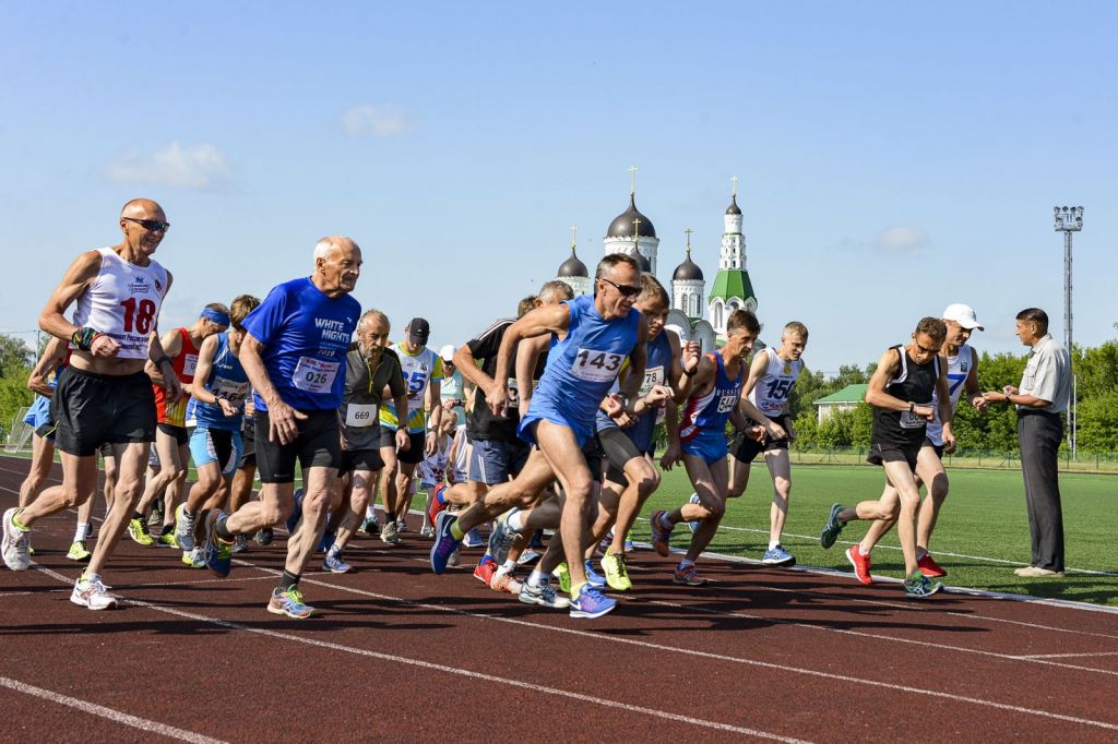
<path id="1" fill-rule="evenodd" d="M 571 223 L 593 266 L 636 164 L 665 284 L 685 228 L 713 280 L 741 179 L 758 315 L 805 322 L 813 369 L 953 302 L 980 349 L 1022 352 L 1033 305 L 1062 337 L 1053 204 L 1087 208 L 1076 340 L 1116 336 L 1118 6 L 605 4 L 0 4 L 0 331 L 149 195 L 163 327 L 341 232 L 362 305 L 457 344 L 555 275 Z"/>

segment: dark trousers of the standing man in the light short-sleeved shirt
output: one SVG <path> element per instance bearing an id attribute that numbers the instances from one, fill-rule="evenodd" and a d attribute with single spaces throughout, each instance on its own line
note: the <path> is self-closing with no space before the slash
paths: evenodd
<path id="1" fill-rule="evenodd" d="M 1063 509 L 1057 469 L 1063 421 L 1059 413 L 1017 412 L 1021 469 L 1025 476 L 1025 507 L 1032 535 L 1032 565 L 1063 571 Z"/>

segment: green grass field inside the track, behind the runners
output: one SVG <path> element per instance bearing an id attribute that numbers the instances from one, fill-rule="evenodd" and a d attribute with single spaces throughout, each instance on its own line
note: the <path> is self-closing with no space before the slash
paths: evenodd
<path id="1" fill-rule="evenodd" d="M 948 585 L 1118 605 L 1118 478 L 1062 474 L 1068 575 L 1024 580 L 1013 569 L 1030 560 L 1029 522 L 1020 471 L 949 469 L 950 493 L 939 515 L 930 550 L 948 571 Z M 800 565 L 853 573 L 843 551 L 865 534 L 869 523 L 849 524 L 834 547 L 819 546 L 819 531 L 831 504 L 877 498 L 883 475 L 868 466 L 793 466 L 793 493 L 784 546 Z M 634 536 L 650 540 L 647 515 L 673 508 L 692 492 L 682 468 L 664 474 L 637 523 Z M 749 488 L 732 499 L 708 550 L 760 559 L 768 543 L 771 480 L 762 462 L 752 466 Z M 672 545 L 690 532 L 676 527 Z M 950 555 L 955 554 L 955 555 Z M 873 551 L 873 573 L 901 578 L 904 564 L 896 531 Z M 1109 575 L 1096 575 L 1096 572 Z"/>

